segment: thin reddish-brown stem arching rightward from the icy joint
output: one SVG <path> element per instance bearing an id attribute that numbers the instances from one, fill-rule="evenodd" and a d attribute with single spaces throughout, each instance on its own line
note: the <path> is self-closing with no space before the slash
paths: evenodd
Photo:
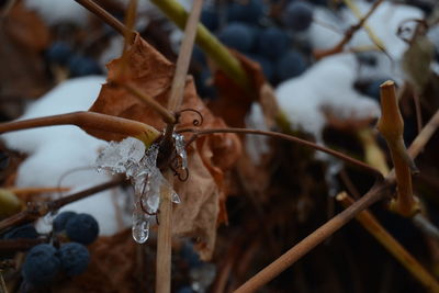
<path id="1" fill-rule="evenodd" d="M 295 137 L 293 135 L 289 135 L 289 134 L 283 134 L 283 133 L 277 133 L 277 132 L 268 132 L 268 131 L 258 131 L 258 129 L 247 129 L 247 128 L 210 128 L 210 129 L 194 129 L 194 128 L 183 128 L 183 129 L 178 129 L 177 133 L 193 133 L 193 137 L 188 140 L 187 145 L 191 144 L 193 140 L 195 140 L 198 138 L 198 136 L 200 135 L 209 135 L 209 134 L 215 134 L 215 133 L 243 133 L 243 134 L 256 134 L 256 135 L 264 135 L 264 136 L 270 136 L 270 137 L 274 137 L 274 138 L 280 138 L 280 139 L 285 139 L 289 142 L 293 142 L 293 143 L 297 143 L 300 145 L 303 146 L 307 146 L 311 147 L 313 149 L 316 150 L 320 150 L 324 151 L 326 154 L 329 154 L 336 158 L 339 158 L 350 165 L 357 166 L 358 168 L 373 174 L 375 178 L 382 180 L 383 179 L 383 174 L 380 172 L 380 170 L 360 161 L 357 160 L 354 158 L 351 158 L 345 154 L 341 154 L 337 150 L 324 147 L 324 146 L 319 146 L 315 143 L 305 140 L 305 139 L 301 139 L 299 137 Z"/>

